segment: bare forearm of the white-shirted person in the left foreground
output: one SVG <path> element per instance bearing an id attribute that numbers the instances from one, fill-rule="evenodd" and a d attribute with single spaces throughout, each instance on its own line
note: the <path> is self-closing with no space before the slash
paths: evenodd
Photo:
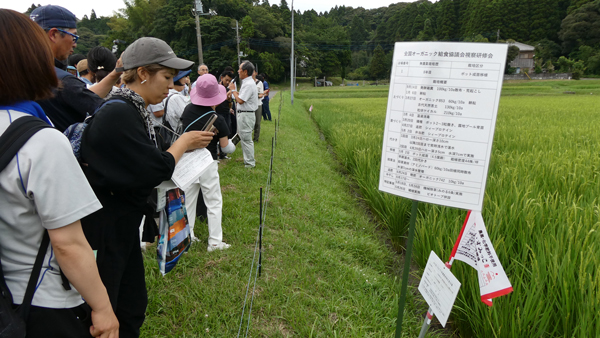
<path id="1" fill-rule="evenodd" d="M 77 221 L 62 228 L 48 230 L 48 234 L 61 270 L 92 308 L 92 336 L 118 338 L 119 322 L 100 279 L 94 253 L 83 234 L 81 223 Z"/>

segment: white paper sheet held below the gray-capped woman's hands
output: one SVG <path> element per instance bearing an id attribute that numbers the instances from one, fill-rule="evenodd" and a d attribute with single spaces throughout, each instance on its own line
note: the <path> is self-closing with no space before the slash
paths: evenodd
<path id="1" fill-rule="evenodd" d="M 200 175 L 213 163 L 212 155 L 206 148 L 185 153 L 177 162 L 171 179 L 181 190 L 186 191 Z"/>

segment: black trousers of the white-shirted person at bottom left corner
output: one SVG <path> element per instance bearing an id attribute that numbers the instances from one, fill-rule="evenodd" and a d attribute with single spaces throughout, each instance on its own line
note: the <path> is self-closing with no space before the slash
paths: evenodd
<path id="1" fill-rule="evenodd" d="M 79 307 L 49 309 L 31 306 L 26 338 L 88 338 L 91 318 Z"/>

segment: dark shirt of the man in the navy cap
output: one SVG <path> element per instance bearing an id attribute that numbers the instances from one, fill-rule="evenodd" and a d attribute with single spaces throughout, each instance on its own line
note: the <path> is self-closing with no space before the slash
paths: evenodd
<path id="1" fill-rule="evenodd" d="M 62 63 L 55 60 L 54 64 L 64 71 Z M 61 88 L 53 90 L 53 98 L 38 103 L 56 129 L 62 132 L 74 123 L 83 122 L 87 114 L 92 115 L 104 100 L 71 74 L 61 80 L 61 85 Z"/>

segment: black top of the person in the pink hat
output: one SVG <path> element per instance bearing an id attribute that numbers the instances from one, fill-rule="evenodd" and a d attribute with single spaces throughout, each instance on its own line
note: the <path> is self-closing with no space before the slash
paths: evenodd
<path id="1" fill-rule="evenodd" d="M 209 113 L 210 111 L 213 111 L 211 107 L 196 106 L 194 104 L 188 104 L 187 107 L 185 107 L 185 109 L 183 111 L 183 115 L 181 115 L 181 122 L 183 124 L 183 129 L 185 130 L 187 128 L 187 131 L 191 131 L 191 130 L 200 130 L 201 131 L 202 128 L 204 128 L 204 125 L 206 124 L 206 122 L 208 122 L 208 119 L 210 119 L 210 117 L 213 114 L 216 114 L 215 112 Z M 206 114 L 206 113 L 208 113 L 208 114 Z M 204 115 L 204 114 L 206 114 L 206 115 Z M 202 117 L 201 119 L 196 121 L 196 119 L 198 119 L 202 115 L 204 115 L 204 117 Z M 206 146 L 206 149 L 208 149 L 210 151 L 210 153 L 213 156 L 213 159 L 216 160 L 217 159 L 217 143 L 219 142 L 220 138 L 229 136 L 229 127 L 227 127 L 227 123 L 225 122 L 225 119 L 223 118 L 223 116 L 220 116 L 219 114 L 217 114 L 217 120 L 215 121 L 215 123 L 213 125 L 215 126 L 215 128 L 217 128 L 218 132 L 217 132 L 217 135 L 215 135 L 215 137 L 213 137 L 212 141 L 210 141 L 208 146 Z"/>

